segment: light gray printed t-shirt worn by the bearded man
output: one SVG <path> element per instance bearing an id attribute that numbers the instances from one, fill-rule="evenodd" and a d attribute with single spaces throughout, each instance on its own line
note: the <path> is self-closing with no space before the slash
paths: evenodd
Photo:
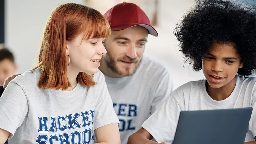
<path id="1" fill-rule="evenodd" d="M 141 128 L 173 89 L 170 72 L 145 55 L 132 76 L 111 78 L 105 75 L 105 79 L 120 120 L 122 144 L 126 144 L 128 137 Z"/>

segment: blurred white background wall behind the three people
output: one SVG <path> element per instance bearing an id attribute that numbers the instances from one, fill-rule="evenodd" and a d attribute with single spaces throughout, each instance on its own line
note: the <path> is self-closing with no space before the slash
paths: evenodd
<path id="1" fill-rule="evenodd" d="M 137 0 L 127 0 L 139 5 Z M 150 2 L 151 0 L 145 0 Z M 144 1 L 144 2 L 145 2 Z M 32 68 L 37 61 L 39 44 L 43 27 L 47 18 L 57 6 L 74 2 L 85 4 L 86 0 L 5 0 L 5 46 L 15 55 L 19 66 L 18 73 Z M 120 0 L 93 0 L 95 9 L 104 14 L 107 9 Z M 151 4 L 141 8 L 148 13 Z M 183 56 L 179 52 L 177 40 L 172 28 L 178 23 L 184 12 L 194 4 L 194 0 L 158 0 L 157 23 L 155 26 L 159 36 L 149 35 L 145 55 L 151 56 L 163 63 L 171 71 L 174 79 L 174 88 L 192 80 L 204 78 L 202 72 L 194 72 L 187 64 L 183 68 Z M 104 6 L 104 8 L 102 8 Z"/>

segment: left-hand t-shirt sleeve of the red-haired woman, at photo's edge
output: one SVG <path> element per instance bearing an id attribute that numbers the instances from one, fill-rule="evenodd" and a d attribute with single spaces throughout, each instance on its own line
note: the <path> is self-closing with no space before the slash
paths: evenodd
<path id="1" fill-rule="evenodd" d="M 0 128 L 10 132 L 12 138 L 28 113 L 25 92 L 15 80 L 10 81 L 0 98 Z"/>

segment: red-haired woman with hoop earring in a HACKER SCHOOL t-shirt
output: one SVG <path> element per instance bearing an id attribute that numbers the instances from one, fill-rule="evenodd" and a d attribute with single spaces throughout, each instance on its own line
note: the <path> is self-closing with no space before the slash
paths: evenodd
<path id="1" fill-rule="evenodd" d="M 110 36 L 105 17 L 80 4 L 63 4 L 46 24 L 39 64 L 17 76 L 0 99 L 0 144 L 119 144 L 99 60 Z M 94 75 L 93 75 L 94 74 Z"/>

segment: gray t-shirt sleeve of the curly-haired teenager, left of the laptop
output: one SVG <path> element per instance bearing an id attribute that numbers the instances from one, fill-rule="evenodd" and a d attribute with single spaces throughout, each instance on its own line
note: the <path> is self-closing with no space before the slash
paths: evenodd
<path id="1" fill-rule="evenodd" d="M 170 95 L 159 109 L 152 114 L 143 124 L 153 138 L 158 142 L 171 143 L 178 124 L 180 105 Z"/>

